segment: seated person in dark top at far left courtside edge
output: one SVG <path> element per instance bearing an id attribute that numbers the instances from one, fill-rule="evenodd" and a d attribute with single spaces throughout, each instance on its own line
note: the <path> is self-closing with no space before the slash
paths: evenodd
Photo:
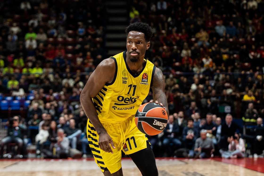
<path id="1" fill-rule="evenodd" d="M 15 156 L 15 158 L 23 158 L 21 152 L 23 148 L 23 131 L 26 130 L 26 126 L 20 122 L 18 116 L 14 116 L 13 118 L 11 118 L 7 122 L 7 125 L 8 125 L 7 136 L 0 141 L 0 147 L 1 147 L 0 157 L 3 156 L 3 150 L 5 145 L 9 143 L 16 143 L 18 148 L 17 148 L 17 155 Z"/>

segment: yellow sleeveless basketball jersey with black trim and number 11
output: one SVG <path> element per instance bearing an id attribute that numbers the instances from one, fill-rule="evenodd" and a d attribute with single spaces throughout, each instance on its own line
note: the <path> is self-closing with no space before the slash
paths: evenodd
<path id="1" fill-rule="evenodd" d="M 93 98 L 93 103 L 100 121 L 116 123 L 135 115 L 149 93 L 156 67 L 144 59 L 145 67 L 135 75 L 126 63 L 126 51 L 110 58 L 116 65 L 114 80 L 106 83 Z"/>

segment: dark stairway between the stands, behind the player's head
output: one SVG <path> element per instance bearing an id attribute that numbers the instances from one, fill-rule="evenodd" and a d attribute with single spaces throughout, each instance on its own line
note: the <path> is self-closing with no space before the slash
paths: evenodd
<path id="1" fill-rule="evenodd" d="M 106 1 L 107 26 L 106 48 L 108 57 L 126 50 L 125 28 L 129 24 L 129 11 L 126 1 Z"/>

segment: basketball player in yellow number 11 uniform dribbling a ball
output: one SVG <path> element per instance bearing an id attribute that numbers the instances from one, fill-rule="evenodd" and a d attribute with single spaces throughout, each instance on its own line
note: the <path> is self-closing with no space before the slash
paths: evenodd
<path id="1" fill-rule="evenodd" d="M 104 175 L 123 175 L 121 151 L 134 161 L 142 175 L 158 175 L 155 158 L 134 116 L 149 89 L 154 102 L 168 112 L 162 71 L 145 59 L 152 28 L 133 23 L 126 28 L 126 49 L 103 60 L 89 77 L 80 101 L 87 121 L 87 137 L 95 162 Z M 153 102 L 151 100 L 150 102 Z"/>

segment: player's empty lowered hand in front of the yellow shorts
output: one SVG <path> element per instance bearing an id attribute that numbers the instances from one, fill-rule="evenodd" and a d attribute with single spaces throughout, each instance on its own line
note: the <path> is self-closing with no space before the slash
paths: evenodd
<path id="1" fill-rule="evenodd" d="M 115 149 L 114 142 L 107 132 L 102 132 L 99 135 L 98 144 L 99 144 L 100 149 L 102 149 L 105 152 L 113 153 L 112 148 Z M 112 148 L 111 148 L 110 144 L 111 144 Z"/>

